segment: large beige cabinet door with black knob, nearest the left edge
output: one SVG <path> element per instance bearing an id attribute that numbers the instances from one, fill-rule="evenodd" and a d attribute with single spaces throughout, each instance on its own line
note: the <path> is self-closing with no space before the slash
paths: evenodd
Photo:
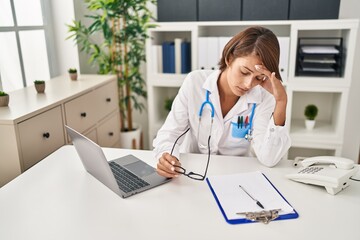
<path id="1" fill-rule="evenodd" d="M 22 171 L 65 144 L 61 107 L 55 107 L 18 124 Z"/>

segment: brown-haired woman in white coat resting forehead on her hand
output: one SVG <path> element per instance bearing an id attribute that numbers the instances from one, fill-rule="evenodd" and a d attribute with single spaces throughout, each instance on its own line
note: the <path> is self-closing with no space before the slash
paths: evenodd
<path id="1" fill-rule="evenodd" d="M 179 151 L 256 156 L 275 166 L 290 147 L 279 56 L 273 32 L 249 27 L 226 44 L 219 70 L 189 73 L 153 142 L 158 173 L 179 175 Z"/>

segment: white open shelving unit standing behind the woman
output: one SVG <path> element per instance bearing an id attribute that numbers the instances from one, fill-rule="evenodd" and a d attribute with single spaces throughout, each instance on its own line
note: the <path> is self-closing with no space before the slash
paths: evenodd
<path id="1" fill-rule="evenodd" d="M 171 22 L 157 23 L 150 29 L 147 40 L 147 86 L 149 106 L 149 142 L 152 143 L 158 129 L 167 116 L 164 101 L 177 94 L 186 75 L 163 74 L 158 72 L 154 45 L 164 41 L 183 38 L 191 42 L 192 70 L 199 69 L 201 56 L 199 38 L 226 39 L 246 27 L 261 25 L 271 29 L 279 38 L 283 84 L 288 94 L 287 123 L 292 139 L 288 152 L 289 159 L 296 156 L 342 155 L 345 117 L 351 76 L 353 72 L 354 50 L 359 20 L 301 20 L 301 21 L 239 21 L 239 22 Z M 296 74 L 299 38 L 342 38 L 344 54 L 340 76 L 298 76 Z M 290 42 L 290 43 L 289 43 Z M 281 47 L 281 46 L 280 46 Z M 200 59 L 199 59 L 200 58 Z M 156 60 L 154 60 L 156 59 Z M 219 57 L 220 60 L 220 57 Z M 288 61 L 285 62 L 284 61 Z M 159 64 L 159 63 L 157 63 Z M 319 108 L 317 123 L 313 131 L 307 131 L 304 124 L 304 108 L 307 104 Z"/>

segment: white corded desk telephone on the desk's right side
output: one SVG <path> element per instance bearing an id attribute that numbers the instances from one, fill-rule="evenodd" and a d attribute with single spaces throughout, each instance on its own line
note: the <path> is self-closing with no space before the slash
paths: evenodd
<path id="1" fill-rule="evenodd" d="M 296 161 L 296 160 L 295 160 Z M 334 156 L 318 156 L 301 161 L 302 168 L 297 173 L 286 175 L 287 178 L 324 186 L 332 195 L 349 186 L 349 178 L 358 171 L 358 166 L 350 159 Z"/>

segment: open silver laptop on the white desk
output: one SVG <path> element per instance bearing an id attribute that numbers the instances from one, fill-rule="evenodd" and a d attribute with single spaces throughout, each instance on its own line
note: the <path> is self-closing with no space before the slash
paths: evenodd
<path id="1" fill-rule="evenodd" d="M 133 155 L 108 162 L 99 145 L 65 127 L 86 171 L 119 196 L 126 198 L 171 180 L 160 176 L 153 167 Z"/>

